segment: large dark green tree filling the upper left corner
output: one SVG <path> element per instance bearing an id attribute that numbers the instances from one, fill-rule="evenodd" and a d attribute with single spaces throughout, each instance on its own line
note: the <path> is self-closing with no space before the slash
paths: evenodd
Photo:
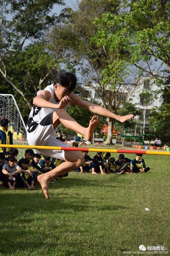
<path id="1" fill-rule="evenodd" d="M 63 1 L 0 1 L 2 86 L 12 87 L 20 105 L 23 106 L 24 101 L 28 108 L 32 107 L 36 92 L 45 81 L 52 80 L 52 71 L 58 68 L 59 58 L 54 59 L 44 41 L 46 31 L 58 21 L 56 15 L 48 15 L 54 4 L 63 4 Z M 6 19 L 9 13 L 11 21 Z"/>

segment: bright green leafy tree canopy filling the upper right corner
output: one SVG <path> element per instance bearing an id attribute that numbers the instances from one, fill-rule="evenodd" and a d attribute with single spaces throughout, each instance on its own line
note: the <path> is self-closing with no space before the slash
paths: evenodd
<path id="1" fill-rule="evenodd" d="M 170 92 L 164 72 L 170 71 L 169 1 L 123 0 L 120 6 L 119 14 L 108 12 L 96 19 L 95 40 L 106 51 L 126 52 L 130 65 Z"/>

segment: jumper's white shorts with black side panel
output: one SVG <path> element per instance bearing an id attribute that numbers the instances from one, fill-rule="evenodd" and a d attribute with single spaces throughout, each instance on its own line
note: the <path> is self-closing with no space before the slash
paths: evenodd
<path id="1" fill-rule="evenodd" d="M 56 132 L 52 124 L 52 114 L 53 113 L 45 116 L 40 124 L 37 122 L 27 122 L 27 140 L 29 145 L 69 147 L 62 141 L 56 139 Z M 34 149 L 34 151 L 41 156 L 50 156 L 66 160 L 64 150 Z"/>

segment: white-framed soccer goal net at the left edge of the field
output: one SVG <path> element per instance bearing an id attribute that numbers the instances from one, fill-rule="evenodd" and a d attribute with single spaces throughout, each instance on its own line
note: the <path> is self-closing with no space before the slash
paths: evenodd
<path id="1" fill-rule="evenodd" d="M 9 129 L 12 132 L 13 144 L 28 144 L 26 125 L 19 111 L 17 102 L 12 94 L 0 94 L 0 119 L 4 118 L 9 120 Z M 25 148 L 18 148 L 18 159 L 24 156 L 25 150 Z"/>

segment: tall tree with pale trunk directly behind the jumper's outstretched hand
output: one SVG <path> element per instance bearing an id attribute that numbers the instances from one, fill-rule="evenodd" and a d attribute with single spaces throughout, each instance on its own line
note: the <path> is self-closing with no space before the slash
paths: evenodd
<path id="1" fill-rule="evenodd" d="M 61 13 L 62 24 L 50 35 L 51 45 L 55 52 L 54 38 L 61 33 L 67 35 L 63 43 L 67 46 L 70 65 L 76 65 L 82 76 L 82 83 L 93 88 L 103 101 L 104 108 L 116 113 L 121 104 L 133 94 L 139 86 L 139 78 L 130 78 L 126 52 L 119 49 L 108 51 L 104 45 L 95 40 L 97 25 L 96 17 L 100 19 L 103 13 L 112 12 L 118 15 L 119 1 L 82 0 L 77 11 L 70 8 Z M 94 38 L 93 38 L 94 37 Z M 130 114 L 130 113 L 128 113 Z M 107 118 L 109 125 L 106 144 L 112 144 L 113 119 Z"/>

